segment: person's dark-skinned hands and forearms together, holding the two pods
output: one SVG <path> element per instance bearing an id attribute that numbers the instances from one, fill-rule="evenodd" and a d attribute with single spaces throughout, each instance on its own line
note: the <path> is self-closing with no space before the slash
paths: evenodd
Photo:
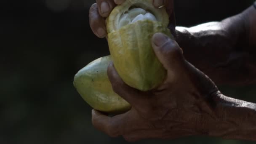
<path id="1" fill-rule="evenodd" d="M 103 1 L 109 5 L 105 13 Z M 90 24 L 98 37 L 107 35 L 102 31 L 104 17 L 123 1 L 97 0 L 92 5 Z M 173 22 L 169 28 L 176 32 L 176 41 L 160 33 L 152 37 L 155 54 L 168 71 L 165 82 L 142 92 L 126 85 L 110 64 L 112 88 L 132 109 L 114 117 L 92 110 L 93 125 L 127 141 L 191 135 L 256 141 L 256 104 L 224 96 L 215 85 L 256 83 L 256 9 L 251 6 L 220 22 L 175 29 L 173 0 L 157 1 L 153 4 L 165 5 Z"/>

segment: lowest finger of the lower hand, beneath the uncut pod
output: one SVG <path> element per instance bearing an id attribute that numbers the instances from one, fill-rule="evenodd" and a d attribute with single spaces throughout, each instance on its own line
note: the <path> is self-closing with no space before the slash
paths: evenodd
<path id="1" fill-rule="evenodd" d="M 111 137 L 144 129 L 143 123 L 139 120 L 139 115 L 134 109 L 114 117 L 108 117 L 93 109 L 92 123 L 99 131 L 103 131 Z"/>

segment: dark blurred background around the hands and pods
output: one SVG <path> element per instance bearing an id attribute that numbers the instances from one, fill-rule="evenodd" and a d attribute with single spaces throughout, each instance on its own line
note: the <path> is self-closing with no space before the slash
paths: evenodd
<path id="1" fill-rule="evenodd" d="M 220 21 L 253 0 L 175 0 L 179 26 Z M 75 73 L 101 56 L 107 42 L 93 35 L 94 0 L 0 1 L 0 144 L 120 144 L 91 125 L 91 107 L 72 85 Z M 220 86 L 256 102 L 255 86 Z M 136 144 L 254 144 L 209 137 L 143 140 Z"/>

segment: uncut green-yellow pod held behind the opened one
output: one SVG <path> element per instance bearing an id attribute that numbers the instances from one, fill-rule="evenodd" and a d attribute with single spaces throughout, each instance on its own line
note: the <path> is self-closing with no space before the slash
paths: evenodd
<path id="1" fill-rule="evenodd" d="M 131 105 L 112 90 L 107 77 L 110 61 L 111 57 L 105 56 L 89 63 L 75 75 L 74 86 L 94 109 L 119 114 L 131 109 Z"/>

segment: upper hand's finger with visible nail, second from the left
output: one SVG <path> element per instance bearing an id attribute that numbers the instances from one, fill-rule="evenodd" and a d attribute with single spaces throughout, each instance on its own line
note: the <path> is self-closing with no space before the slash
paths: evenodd
<path id="1" fill-rule="evenodd" d="M 96 0 L 98 10 L 101 16 L 107 17 L 112 9 L 116 6 L 113 0 Z"/>

